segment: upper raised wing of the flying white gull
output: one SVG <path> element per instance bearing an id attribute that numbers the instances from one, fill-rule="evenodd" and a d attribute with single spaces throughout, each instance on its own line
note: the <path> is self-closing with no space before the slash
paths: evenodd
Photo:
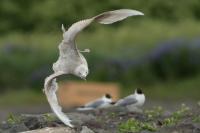
<path id="1" fill-rule="evenodd" d="M 72 45 L 71 47 L 76 49 L 75 38 L 77 34 L 80 31 L 82 31 L 85 27 L 90 25 L 93 21 L 96 21 L 100 24 L 112 24 L 114 22 L 121 21 L 127 17 L 136 15 L 144 15 L 144 14 L 139 11 L 131 9 L 119 9 L 119 10 L 104 12 L 90 19 L 85 19 L 76 22 L 66 32 L 64 27 L 62 27 L 64 32 L 63 33 L 64 42 L 66 44 Z"/>

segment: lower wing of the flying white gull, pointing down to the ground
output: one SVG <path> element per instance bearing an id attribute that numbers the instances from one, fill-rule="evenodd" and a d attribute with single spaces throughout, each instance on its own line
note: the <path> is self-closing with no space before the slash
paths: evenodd
<path id="1" fill-rule="evenodd" d="M 60 72 L 60 73 L 54 73 L 47 77 L 45 79 L 45 84 L 44 84 L 44 91 L 47 96 L 47 100 L 51 106 L 51 109 L 53 112 L 58 116 L 58 118 L 67 126 L 69 127 L 74 127 L 70 122 L 71 120 L 62 112 L 62 108 L 58 104 L 58 99 L 57 99 L 57 89 L 58 85 L 56 83 L 56 77 L 63 75 L 65 73 Z"/>

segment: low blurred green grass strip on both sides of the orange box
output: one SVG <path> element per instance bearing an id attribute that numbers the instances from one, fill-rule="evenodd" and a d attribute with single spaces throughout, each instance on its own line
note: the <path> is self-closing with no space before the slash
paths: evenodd
<path id="1" fill-rule="evenodd" d="M 182 81 L 173 81 L 158 83 L 152 86 L 132 85 L 129 87 L 121 86 L 121 97 L 130 95 L 135 88 L 141 87 L 147 100 L 159 101 L 198 101 L 200 99 L 200 76 L 185 79 Z M 46 96 L 42 91 L 36 92 L 31 89 L 9 90 L 0 94 L 0 106 L 17 105 L 42 105 L 47 104 Z"/>

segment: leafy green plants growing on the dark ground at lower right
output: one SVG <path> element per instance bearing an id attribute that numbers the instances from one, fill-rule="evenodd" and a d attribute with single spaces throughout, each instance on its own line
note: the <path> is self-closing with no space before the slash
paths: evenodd
<path id="1" fill-rule="evenodd" d="M 176 111 L 172 112 L 170 116 L 165 118 L 163 117 L 164 111 L 162 107 L 153 107 L 152 109 L 145 110 L 144 113 L 147 117 L 145 121 L 139 121 L 136 119 L 129 119 L 126 122 L 122 122 L 119 124 L 119 132 L 120 133 L 127 133 L 127 132 L 140 132 L 143 130 L 147 131 L 157 131 L 162 127 L 169 127 L 175 126 L 179 122 L 181 122 L 185 117 L 190 115 L 191 117 L 194 116 L 191 114 L 191 110 L 185 104 L 182 104 L 180 108 Z M 195 123 L 200 122 L 200 117 L 192 118 L 192 121 Z M 159 122 L 159 123 L 158 123 Z"/>

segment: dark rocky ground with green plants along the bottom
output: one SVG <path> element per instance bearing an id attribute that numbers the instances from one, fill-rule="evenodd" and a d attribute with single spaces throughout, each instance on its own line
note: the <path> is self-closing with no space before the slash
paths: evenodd
<path id="1" fill-rule="evenodd" d="M 200 133 L 200 106 L 182 105 L 172 110 L 147 106 L 143 112 L 129 112 L 124 107 L 66 113 L 76 128 L 63 125 L 54 114 L 10 115 L 0 125 L 2 133 L 132 133 L 135 122 L 141 133 Z M 132 120 L 133 125 L 127 123 Z M 141 124 L 142 123 L 142 124 Z M 151 125 L 151 127 L 147 125 Z M 125 126 L 124 126 L 125 125 Z M 153 128 L 153 129 L 152 129 Z"/>

